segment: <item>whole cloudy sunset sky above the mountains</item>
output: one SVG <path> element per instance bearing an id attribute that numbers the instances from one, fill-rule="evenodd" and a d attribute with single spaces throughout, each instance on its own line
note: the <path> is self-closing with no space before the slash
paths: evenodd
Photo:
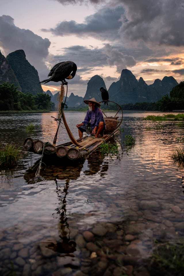
<path id="1" fill-rule="evenodd" d="M 98 74 L 109 88 L 127 68 L 147 84 L 184 76 L 184 0 L 1 0 L 0 49 L 23 49 L 47 78 L 54 64 L 78 70 L 70 93 L 84 96 Z M 59 90 L 49 83 L 43 90 Z M 69 95 L 70 95 L 69 93 Z"/>

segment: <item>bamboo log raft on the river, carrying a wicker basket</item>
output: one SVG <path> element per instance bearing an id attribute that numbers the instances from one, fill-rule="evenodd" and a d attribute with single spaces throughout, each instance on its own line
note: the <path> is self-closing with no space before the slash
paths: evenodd
<path id="1" fill-rule="evenodd" d="M 118 105 L 119 111 L 122 112 L 121 107 Z M 72 142 L 66 142 L 61 145 L 55 146 L 51 143 L 44 143 L 41 140 L 33 140 L 32 138 L 26 138 L 24 141 L 24 149 L 29 152 L 33 152 L 36 154 L 42 154 L 44 158 L 49 158 L 52 160 L 72 160 L 72 161 L 80 161 L 81 159 L 87 158 L 89 154 L 95 151 L 99 145 L 103 142 L 107 141 L 110 137 L 112 137 L 119 129 L 120 124 L 123 118 L 123 112 L 119 120 L 117 114 L 114 117 L 106 117 L 104 118 L 106 122 L 106 131 L 104 132 L 104 136 L 101 138 L 95 138 L 94 136 L 83 137 L 78 140 L 75 140 L 74 137 L 70 137 L 70 131 L 68 131 L 68 125 L 66 123 L 66 119 L 63 116 L 63 121 L 66 127 L 66 130 L 69 134 L 69 137 L 72 138 Z M 105 114 L 104 114 L 105 115 Z"/>

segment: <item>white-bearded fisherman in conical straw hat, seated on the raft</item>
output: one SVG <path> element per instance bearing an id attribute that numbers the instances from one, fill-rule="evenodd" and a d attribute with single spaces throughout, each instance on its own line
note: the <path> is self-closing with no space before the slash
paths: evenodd
<path id="1" fill-rule="evenodd" d="M 100 104 L 95 100 L 95 98 L 85 100 L 84 102 L 89 105 L 89 110 L 87 111 L 84 121 L 81 124 L 76 125 L 78 128 L 78 135 L 80 138 L 83 137 L 83 132 L 87 129 L 86 124 L 90 122 L 92 134 L 95 134 L 95 138 L 97 138 L 99 134 L 103 134 L 106 126 L 104 116 L 99 108 Z"/>

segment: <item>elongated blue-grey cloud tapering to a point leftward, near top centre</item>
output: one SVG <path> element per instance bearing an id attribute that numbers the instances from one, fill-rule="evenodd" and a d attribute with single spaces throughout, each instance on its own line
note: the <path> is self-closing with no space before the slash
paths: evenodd
<path id="1" fill-rule="evenodd" d="M 80 37 L 92 36 L 102 40 L 117 39 L 117 30 L 121 26 L 120 18 L 124 12 L 122 7 L 115 9 L 103 8 L 95 14 L 87 16 L 84 23 L 74 20 L 62 21 L 55 28 L 41 29 L 43 32 L 52 32 L 57 36 L 77 35 Z"/>

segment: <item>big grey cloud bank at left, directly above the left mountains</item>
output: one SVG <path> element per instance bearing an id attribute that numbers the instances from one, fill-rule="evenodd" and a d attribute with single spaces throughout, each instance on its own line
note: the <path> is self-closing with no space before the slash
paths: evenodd
<path id="1" fill-rule="evenodd" d="M 3 51 L 8 54 L 23 49 L 26 58 L 39 71 L 40 75 L 47 70 L 43 59 L 49 53 L 50 44 L 49 39 L 43 39 L 30 30 L 16 27 L 11 16 L 0 16 L 0 46 Z"/>

